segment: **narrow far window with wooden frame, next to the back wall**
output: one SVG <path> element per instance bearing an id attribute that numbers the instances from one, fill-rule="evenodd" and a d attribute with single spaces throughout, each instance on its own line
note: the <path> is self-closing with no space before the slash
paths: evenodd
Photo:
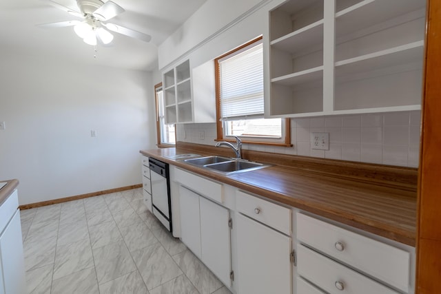
<path id="1" fill-rule="evenodd" d="M 174 125 L 165 123 L 163 83 L 154 86 L 156 97 L 156 134 L 158 147 L 173 147 L 176 144 L 176 132 Z"/>

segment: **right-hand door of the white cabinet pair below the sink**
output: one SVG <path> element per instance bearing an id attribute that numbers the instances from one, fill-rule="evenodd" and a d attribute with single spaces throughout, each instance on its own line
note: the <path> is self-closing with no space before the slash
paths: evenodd
<path id="1" fill-rule="evenodd" d="M 202 261 L 219 278 L 220 282 L 231 286 L 229 210 L 225 207 L 199 198 L 201 207 Z"/>

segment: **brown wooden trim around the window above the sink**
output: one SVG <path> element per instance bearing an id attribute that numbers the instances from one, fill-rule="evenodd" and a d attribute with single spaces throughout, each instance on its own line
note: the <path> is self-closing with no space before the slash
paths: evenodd
<path id="1" fill-rule="evenodd" d="M 228 56 L 230 54 L 233 54 L 234 52 L 237 52 L 238 50 L 241 50 L 252 43 L 255 43 L 257 41 L 260 41 L 263 37 L 258 36 L 256 39 L 249 41 L 238 48 L 235 48 L 218 58 L 214 59 L 214 78 L 216 79 L 216 141 L 231 141 L 234 140 L 224 138 L 223 137 L 223 122 L 222 122 L 222 116 L 220 114 L 220 70 L 219 70 L 219 63 L 218 61 L 220 59 L 223 59 L 225 56 Z M 254 141 L 254 140 L 247 140 L 247 138 L 243 138 L 243 143 L 249 143 L 249 144 L 258 144 L 258 145 L 271 145 L 271 146 L 282 146 L 282 147 L 292 147 L 291 144 L 291 121 L 289 118 L 285 118 L 285 142 L 260 142 L 260 141 Z"/>

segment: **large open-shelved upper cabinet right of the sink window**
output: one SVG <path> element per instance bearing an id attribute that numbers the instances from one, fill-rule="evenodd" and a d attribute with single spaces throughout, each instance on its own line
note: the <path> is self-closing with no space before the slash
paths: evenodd
<path id="1" fill-rule="evenodd" d="M 421 108 L 424 0 L 291 0 L 269 12 L 267 116 Z"/>

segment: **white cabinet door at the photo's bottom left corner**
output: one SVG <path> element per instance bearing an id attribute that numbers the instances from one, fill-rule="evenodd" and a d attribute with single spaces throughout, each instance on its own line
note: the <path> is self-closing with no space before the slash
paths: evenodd
<path id="1" fill-rule="evenodd" d="M 1 267 L 5 293 L 25 293 L 25 267 L 20 212 L 14 214 L 0 236 Z"/>

